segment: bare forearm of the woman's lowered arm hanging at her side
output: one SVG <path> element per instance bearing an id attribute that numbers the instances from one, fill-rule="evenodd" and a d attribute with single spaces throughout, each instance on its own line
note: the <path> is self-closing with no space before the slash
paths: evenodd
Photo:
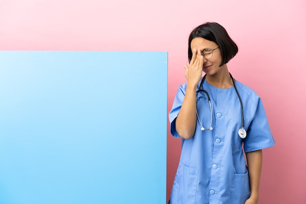
<path id="1" fill-rule="evenodd" d="M 259 185 L 262 172 L 262 150 L 246 153 L 250 180 L 250 199 L 257 204 L 259 199 Z"/>

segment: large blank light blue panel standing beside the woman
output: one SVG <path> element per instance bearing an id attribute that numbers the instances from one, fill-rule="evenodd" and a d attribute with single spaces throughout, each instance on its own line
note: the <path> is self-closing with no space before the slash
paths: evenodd
<path id="1" fill-rule="evenodd" d="M 1 204 L 164 204 L 167 53 L 0 51 Z"/>

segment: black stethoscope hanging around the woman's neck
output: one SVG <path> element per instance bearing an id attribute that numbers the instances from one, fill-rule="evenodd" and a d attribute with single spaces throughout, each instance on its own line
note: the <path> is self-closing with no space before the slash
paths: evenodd
<path id="1" fill-rule="evenodd" d="M 236 88 L 234 78 L 232 77 L 231 73 L 229 73 L 229 74 L 230 74 L 231 79 L 232 79 L 232 81 L 233 81 L 233 84 L 234 84 L 234 87 L 235 87 L 235 91 L 236 91 L 237 96 L 238 96 L 238 98 L 239 98 L 240 107 L 241 107 L 241 121 L 242 121 L 242 125 L 241 125 L 241 128 L 238 130 L 238 135 L 239 135 L 240 138 L 244 139 L 244 138 L 246 137 L 246 131 L 245 131 L 244 127 L 243 127 L 243 108 L 242 108 L 242 102 L 241 102 L 241 98 L 240 98 L 240 95 L 239 95 L 239 93 L 238 93 L 238 90 L 237 90 L 237 88 Z M 205 81 L 205 77 L 206 77 L 206 75 L 202 78 L 202 81 L 201 81 L 201 83 L 200 83 L 199 89 L 197 90 L 197 93 L 199 93 L 199 92 L 204 92 L 204 93 L 206 94 L 206 96 L 207 96 L 207 100 L 208 100 L 209 106 L 210 106 L 210 125 L 209 125 L 208 128 L 204 128 L 203 125 L 202 125 L 202 123 L 200 122 L 200 119 L 199 119 L 199 117 L 198 117 L 198 113 L 197 113 L 197 120 L 198 120 L 198 122 L 199 122 L 200 125 L 201 125 L 201 130 L 212 130 L 212 129 L 213 129 L 213 127 L 212 127 L 212 122 L 213 122 L 212 103 L 210 102 L 210 97 L 209 97 L 207 91 L 205 91 L 204 89 L 202 89 L 202 85 L 203 85 L 203 83 L 204 83 L 204 81 Z M 196 108 L 196 112 L 197 112 L 197 108 Z"/>

